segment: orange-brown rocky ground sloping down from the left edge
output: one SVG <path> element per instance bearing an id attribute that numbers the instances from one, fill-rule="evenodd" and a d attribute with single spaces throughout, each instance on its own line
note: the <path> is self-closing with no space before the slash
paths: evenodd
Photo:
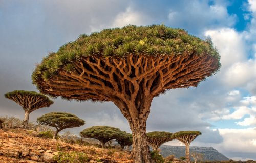
<path id="1" fill-rule="evenodd" d="M 37 163 L 56 162 L 59 152 L 83 152 L 88 162 L 129 163 L 128 153 L 117 149 L 69 144 L 60 140 L 36 137 L 37 133 L 23 129 L 0 129 L 0 162 Z"/>

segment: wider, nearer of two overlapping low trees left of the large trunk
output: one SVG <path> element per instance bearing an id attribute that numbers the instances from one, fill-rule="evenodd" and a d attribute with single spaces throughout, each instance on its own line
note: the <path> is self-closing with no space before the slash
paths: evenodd
<path id="1" fill-rule="evenodd" d="M 84 129 L 80 132 L 81 137 L 95 138 L 101 142 L 102 148 L 105 148 L 105 143 L 120 137 L 125 137 L 125 133 L 119 128 L 110 126 L 93 126 Z"/>

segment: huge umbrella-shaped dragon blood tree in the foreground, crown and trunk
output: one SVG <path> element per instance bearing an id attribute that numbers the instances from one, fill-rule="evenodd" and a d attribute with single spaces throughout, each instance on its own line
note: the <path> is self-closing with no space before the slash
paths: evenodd
<path id="1" fill-rule="evenodd" d="M 210 39 L 164 25 L 82 34 L 50 53 L 32 74 L 44 94 L 78 101 L 112 101 L 133 132 L 131 158 L 150 162 L 146 120 L 154 97 L 196 87 L 220 68 Z"/>

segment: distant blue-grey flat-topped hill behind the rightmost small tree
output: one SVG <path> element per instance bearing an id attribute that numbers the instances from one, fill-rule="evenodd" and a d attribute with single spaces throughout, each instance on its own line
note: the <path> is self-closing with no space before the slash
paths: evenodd
<path id="1" fill-rule="evenodd" d="M 185 146 L 160 146 L 160 154 L 164 157 L 174 155 L 176 158 L 185 157 Z M 190 152 L 203 153 L 204 159 L 208 161 L 226 161 L 229 160 L 226 156 L 218 152 L 212 147 L 190 147 Z"/>

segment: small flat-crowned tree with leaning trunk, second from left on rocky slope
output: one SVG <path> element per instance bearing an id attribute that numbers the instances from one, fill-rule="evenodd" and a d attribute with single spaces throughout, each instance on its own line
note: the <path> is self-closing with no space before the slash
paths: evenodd
<path id="1" fill-rule="evenodd" d="M 66 128 L 79 127 L 84 125 L 84 121 L 76 115 L 66 112 L 50 112 L 37 118 L 37 122 L 41 125 L 48 125 L 56 128 L 53 139 L 56 139 L 59 131 Z"/>

